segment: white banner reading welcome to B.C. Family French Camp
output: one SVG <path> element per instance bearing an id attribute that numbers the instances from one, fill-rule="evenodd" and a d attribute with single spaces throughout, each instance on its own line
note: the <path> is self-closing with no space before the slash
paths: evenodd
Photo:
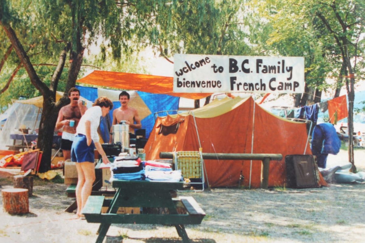
<path id="1" fill-rule="evenodd" d="M 304 58 L 174 55 L 176 93 L 303 93 Z"/>

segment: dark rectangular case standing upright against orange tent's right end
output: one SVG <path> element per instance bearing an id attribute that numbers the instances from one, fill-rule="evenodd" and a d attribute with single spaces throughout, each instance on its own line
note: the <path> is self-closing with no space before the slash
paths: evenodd
<path id="1" fill-rule="evenodd" d="M 288 188 L 317 187 L 316 166 L 312 155 L 287 155 L 285 165 Z"/>

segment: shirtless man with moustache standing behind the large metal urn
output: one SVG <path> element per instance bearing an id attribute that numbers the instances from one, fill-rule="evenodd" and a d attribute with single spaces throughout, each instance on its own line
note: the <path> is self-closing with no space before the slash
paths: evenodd
<path id="1" fill-rule="evenodd" d="M 119 94 L 120 107 L 113 111 L 113 124 L 119 124 L 120 121 L 126 121 L 129 125 L 129 132 L 134 134 L 134 129 L 142 128 L 141 119 L 139 119 L 138 111 L 132 107 L 128 107 L 129 94 L 126 91 L 122 91 Z M 136 124 L 134 124 L 134 122 Z M 110 129 L 112 133 L 113 127 Z M 112 142 L 112 137 L 110 137 L 110 143 Z"/>

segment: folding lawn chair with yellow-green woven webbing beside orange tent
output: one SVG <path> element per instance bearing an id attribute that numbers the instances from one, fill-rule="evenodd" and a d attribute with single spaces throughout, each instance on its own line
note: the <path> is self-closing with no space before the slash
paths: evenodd
<path id="1" fill-rule="evenodd" d="M 179 151 L 174 152 L 173 157 L 175 169 L 180 169 L 181 175 L 184 179 L 189 179 L 189 184 L 194 188 L 185 191 L 204 191 L 204 161 L 201 153 L 199 151 Z M 195 187 L 201 185 L 201 189 L 195 189 L 194 185 Z"/>

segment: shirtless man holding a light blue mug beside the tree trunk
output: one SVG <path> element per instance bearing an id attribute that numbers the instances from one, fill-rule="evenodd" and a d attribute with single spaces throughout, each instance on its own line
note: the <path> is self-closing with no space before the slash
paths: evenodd
<path id="1" fill-rule="evenodd" d="M 69 90 L 69 99 L 69 105 L 59 110 L 56 122 L 56 129 L 63 127 L 61 149 L 64 154 L 64 160 L 71 158 L 71 146 L 75 137 L 76 127 L 81 116 L 87 110 L 87 107 L 82 105 L 82 101 L 80 101 L 80 90 L 77 88 L 73 87 Z M 74 121 L 73 126 L 70 126 L 71 120 Z"/>

